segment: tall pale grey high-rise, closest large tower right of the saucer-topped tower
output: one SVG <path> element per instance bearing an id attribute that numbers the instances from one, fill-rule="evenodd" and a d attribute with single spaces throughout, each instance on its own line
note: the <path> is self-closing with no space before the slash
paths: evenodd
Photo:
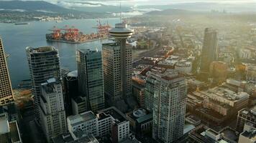
<path id="1" fill-rule="evenodd" d="M 186 80 L 177 71 L 150 74 L 155 80 L 152 137 L 160 142 L 175 142 L 183 136 L 186 114 Z"/>

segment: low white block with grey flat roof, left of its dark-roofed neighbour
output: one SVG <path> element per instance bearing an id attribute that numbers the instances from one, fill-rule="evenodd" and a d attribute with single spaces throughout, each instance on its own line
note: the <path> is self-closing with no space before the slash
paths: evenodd
<path id="1" fill-rule="evenodd" d="M 98 118 L 93 112 L 83 112 L 67 118 L 68 131 L 74 139 L 83 136 L 93 135 L 99 136 Z M 82 136 L 79 134 L 83 134 Z"/>

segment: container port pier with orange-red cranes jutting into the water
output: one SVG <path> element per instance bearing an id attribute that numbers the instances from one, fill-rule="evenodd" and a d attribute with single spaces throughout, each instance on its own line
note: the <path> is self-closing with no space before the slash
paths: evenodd
<path id="1" fill-rule="evenodd" d="M 109 31 L 109 29 L 106 29 L 106 31 Z M 83 32 L 79 31 L 79 29 L 76 29 L 74 26 L 65 26 L 63 29 L 58 29 L 56 26 L 54 26 L 52 29 L 50 29 L 50 31 L 52 31 L 52 33 L 46 34 L 47 41 L 70 44 L 81 44 L 88 41 L 108 38 L 108 32 L 99 32 L 98 30 L 97 33 L 83 34 Z"/>

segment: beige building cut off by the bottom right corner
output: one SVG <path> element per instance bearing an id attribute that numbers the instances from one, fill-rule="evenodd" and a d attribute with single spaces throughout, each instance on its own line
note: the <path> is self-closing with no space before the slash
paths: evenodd
<path id="1" fill-rule="evenodd" d="M 238 143 L 255 143 L 255 142 L 256 142 L 255 125 L 250 123 L 244 124 L 244 132 L 240 134 Z"/>

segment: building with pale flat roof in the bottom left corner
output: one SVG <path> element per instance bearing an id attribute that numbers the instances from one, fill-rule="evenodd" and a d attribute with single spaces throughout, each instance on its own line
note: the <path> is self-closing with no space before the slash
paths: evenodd
<path id="1" fill-rule="evenodd" d="M 9 122 L 6 113 L 0 114 L 0 142 L 22 143 L 17 122 Z"/>

